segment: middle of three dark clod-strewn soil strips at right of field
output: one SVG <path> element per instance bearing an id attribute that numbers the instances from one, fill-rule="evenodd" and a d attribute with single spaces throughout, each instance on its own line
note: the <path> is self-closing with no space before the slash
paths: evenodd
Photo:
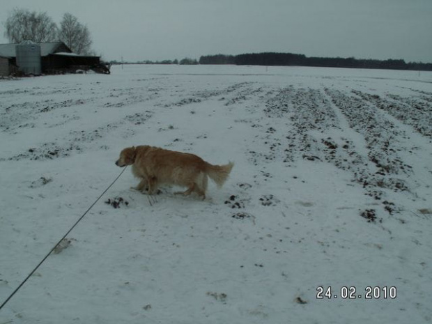
<path id="1" fill-rule="evenodd" d="M 355 171 L 355 181 L 363 185 L 368 195 L 382 201 L 389 213 L 399 211 L 394 202 L 387 201 L 386 192 L 415 196 L 410 180 L 412 167 L 401 152 L 401 140 L 408 135 L 364 98 L 330 89 L 325 89 L 325 93 L 344 114 L 349 127 L 362 134 L 366 142 L 367 162 Z"/>

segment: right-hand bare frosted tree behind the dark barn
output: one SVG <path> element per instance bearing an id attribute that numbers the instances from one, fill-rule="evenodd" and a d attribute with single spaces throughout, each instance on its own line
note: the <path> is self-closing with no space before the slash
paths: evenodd
<path id="1" fill-rule="evenodd" d="M 92 40 L 90 31 L 88 31 L 87 26 L 80 24 L 77 17 L 70 13 L 63 15 L 63 20 L 60 23 L 59 38 L 76 54 L 91 53 Z"/>

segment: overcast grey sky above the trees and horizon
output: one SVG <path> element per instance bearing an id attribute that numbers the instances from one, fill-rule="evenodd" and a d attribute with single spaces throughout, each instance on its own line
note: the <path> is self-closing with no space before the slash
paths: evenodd
<path id="1" fill-rule="evenodd" d="M 432 0 L 0 0 L 87 24 L 103 59 L 199 59 L 207 54 L 307 56 L 432 63 Z"/>

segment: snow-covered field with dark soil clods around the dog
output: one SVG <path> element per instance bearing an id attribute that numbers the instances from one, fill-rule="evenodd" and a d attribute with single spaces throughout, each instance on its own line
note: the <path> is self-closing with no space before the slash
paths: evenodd
<path id="1" fill-rule="evenodd" d="M 432 73 L 0 80 L 0 137 L 0 304 L 118 176 L 122 148 L 236 163 L 205 201 L 148 199 L 127 169 L 0 324 L 432 323 Z"/>

